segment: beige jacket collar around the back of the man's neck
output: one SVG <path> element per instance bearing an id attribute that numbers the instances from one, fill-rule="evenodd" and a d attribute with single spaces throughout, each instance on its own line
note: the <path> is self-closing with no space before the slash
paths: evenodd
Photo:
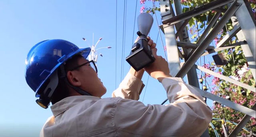
<path id="1" fill-rule="evenodd" d="M 51 106 L 52 113 L 54 117 L 61 114 L 62 112 L 72 108 L 76 104 L 83 102 L 84 100 L 100 100 L 101 98 L 95 96 L 70 96 L 60 100 Z"/>

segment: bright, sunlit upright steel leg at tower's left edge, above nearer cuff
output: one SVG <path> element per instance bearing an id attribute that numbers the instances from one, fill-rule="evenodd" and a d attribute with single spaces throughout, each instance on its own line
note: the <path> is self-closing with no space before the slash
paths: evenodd
<path id="1" fill-rule="evenodd" d="M 172 18 L 173 13 L 170 6 L 170 0 L 160 0 L 160 11 L 163 20 Z M 163 27 L 170 74 L 172 76 L 175 76 L 180 70 L 180 59 L 178 53 L 178 46 L 176 43 L 175 30 L 173 25 L 163 25 Z"/>

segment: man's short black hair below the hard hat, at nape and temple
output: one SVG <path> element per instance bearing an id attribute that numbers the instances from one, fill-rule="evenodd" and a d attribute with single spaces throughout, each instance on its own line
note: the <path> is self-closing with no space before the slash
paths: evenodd
<path id="1" fill-rule="evenodd" d="M 68 71 L 72 70 L 72 68 L 78 66 L 78 59 L 81 57 L 82 57 L 82 55 L 75 55 L 74 57 L 72 57 L 71 59 L 66 61 L 66 64 L 64 65 L 65 71 L 68 72 Z M 58 74 L 58 76 L 60 76 L 60 74 Z M 68 97 L 69 96 L 68 89 L 69 89 L 68 85 L 66 84 L 64 79 L 60 79 L 60 77 L 59 77 L 58 86 L 56 87 L 54 94 L 52 96 L 52 101 L 51 101 L 52 104 L 55 104 L 55 103 L 59 102 L 60 100 Z"/>

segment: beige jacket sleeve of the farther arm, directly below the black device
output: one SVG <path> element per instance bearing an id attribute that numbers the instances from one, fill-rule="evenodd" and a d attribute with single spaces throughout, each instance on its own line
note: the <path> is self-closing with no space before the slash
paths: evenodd
<path id="1" fill-rule="evenodd" d="M 145 85 L 140 79 L 128 73 L 124 80 L 120 83 L 119 87 L 114 90 L 112 97 L 139 100 L 140 93 L 144 86 Z"/>

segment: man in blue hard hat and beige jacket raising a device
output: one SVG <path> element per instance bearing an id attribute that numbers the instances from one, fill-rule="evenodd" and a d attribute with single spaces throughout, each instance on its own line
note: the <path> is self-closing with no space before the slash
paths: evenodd
<path id="1" fill-rule="evenodd" d="M 168 63 L 156 55 L 156 44 L 148 37 L 156 60 L 144 70 L 164 86 L 170 104 L 147 105 L 137 101 L 144 87 L 144 70 L 132 67 L 112 93 L 97 76 L 93 61 L 86 60 L 90 48 L 53 39 L 36 44 L 26 59 L 26 81 L 43 108 L 52 102 L 42 137 L 198 137 L 212 119 L 212 111 L 196 89 L 170 75 Z M 160 91 L 155 91 L 157 92 Z"/>

